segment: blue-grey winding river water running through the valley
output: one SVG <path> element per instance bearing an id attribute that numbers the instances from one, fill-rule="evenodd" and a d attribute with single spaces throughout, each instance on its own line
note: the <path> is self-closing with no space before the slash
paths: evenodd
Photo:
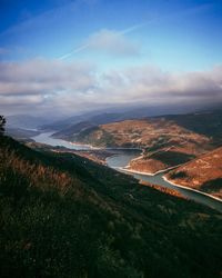
<path id="1" fill-rule="evenodd" d="M 52 138 L 50 137 L 52 133 L 53 132 L 41 133 L 39 136 L 32 137 L 32 139 L 37 142 L 51 145 L 53 147 L 59 146 L 59 147 L 65 147 L 65 148 L 75 149 L 75 150 L 91 149 L 90 146 L 70 143 L 61 139 Z M 124 172 L 122 168 L 124 168 L 130 162 L 130 160 L 132 160 L 133 158 L 137 158 L 138 156 L 139 156 L 138 150 L 132 150 L 132 149 L 118 150 L 118 155 L 107 158 L 105 161 L 110 168 L 114 168 L 117 170 Z M 143 175 L 143 173 L 131 173 L 131 175 L 138 180 L 143 180 L 143 181 L 151 182 L 153 185 L 159 185 L 165 188 L 174 189 L 190 200 L 211 207 L 222 212 L 222 201 L 216 200 L 213 197 L 206 196 L 200 191 L 196 192 L 192 189 L 181 188 L 179 186 L 172 185 L 163 179 L 164 172 L 158 173 L 155 176 L 149 176 L 149 175 Z"/>

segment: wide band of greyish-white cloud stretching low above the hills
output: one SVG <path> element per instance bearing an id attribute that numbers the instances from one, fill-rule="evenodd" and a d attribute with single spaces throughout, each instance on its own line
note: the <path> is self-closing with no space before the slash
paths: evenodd
<path id="1" fill-rule="evenodd" d="M 222 102 L 222 67 L 176 73 L 142 66 L 99 73 L 95 67 L 80 62 L 34 59 L 0 63 L 0 110 L 4 113 L 213 102 Z"/>

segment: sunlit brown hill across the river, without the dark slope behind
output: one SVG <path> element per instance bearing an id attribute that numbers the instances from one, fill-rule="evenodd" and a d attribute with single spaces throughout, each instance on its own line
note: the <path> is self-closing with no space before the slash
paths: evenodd
<path id="1" fill-rule="evenodd" d="M 72 131 L 54 136 L 69 141 L 90 143 L 97 147 L 140 148 L 143 155 L 131 161 L 130 169 L 155 172 L 186 162 L 212 149 L 211 139 L 190 131 L 165 118 L 125 120 L 100 126 L 80 125 Z"/>

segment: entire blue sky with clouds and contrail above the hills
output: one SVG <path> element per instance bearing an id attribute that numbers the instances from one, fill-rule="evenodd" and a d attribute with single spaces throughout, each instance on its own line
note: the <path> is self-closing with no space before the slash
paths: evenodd
<path id="1" fill-rule="evenodd" d="M 220 105 L 221 0 L 0 0 L 0 112 Z"/>

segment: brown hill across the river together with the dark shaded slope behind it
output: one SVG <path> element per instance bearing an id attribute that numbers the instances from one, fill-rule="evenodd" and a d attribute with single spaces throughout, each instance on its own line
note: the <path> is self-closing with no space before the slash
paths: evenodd
<path id="1" fill-rule="evenodd" d="M 54 137 L 102 148 L 140 148 L 142 156 L 131 161 L 129 169 L 150 173 L 188 162 L 222 143 L 221 110 L 83 123 L 61 130 Z"/>

